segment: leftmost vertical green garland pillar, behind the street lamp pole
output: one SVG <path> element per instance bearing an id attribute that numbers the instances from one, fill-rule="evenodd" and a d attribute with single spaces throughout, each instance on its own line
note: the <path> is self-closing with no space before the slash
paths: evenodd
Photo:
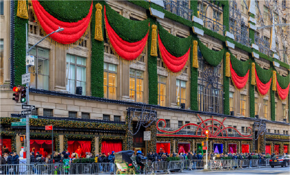
<path id="1" fill-rule="evenodd" d="M 14 1 L 14 84 L 21 85 L 22 74 L 25 73 L 25 56 L 26 56 L 26 36 L 25 25 L 27 19 L 22 19 L 17 14 L 18 1 Z M 13 42 L 13 41 L 11 41 Z"/>

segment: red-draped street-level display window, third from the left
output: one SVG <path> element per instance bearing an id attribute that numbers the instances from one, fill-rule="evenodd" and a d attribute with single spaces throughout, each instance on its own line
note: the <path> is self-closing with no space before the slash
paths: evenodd
<path id="1" fill-rule="evenodd" d="M 91 141 L 67 141 L 67 150 L 70 154 L 75 152 L 79 157 L 85 157 L 86 152 L 90 152 L 90 142 Z"/>

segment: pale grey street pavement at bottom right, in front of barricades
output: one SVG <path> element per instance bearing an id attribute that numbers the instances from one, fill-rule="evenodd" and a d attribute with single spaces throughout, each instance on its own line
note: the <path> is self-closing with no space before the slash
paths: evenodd
<path id="1" fill-rule="evenodd" d="M 203 170 L 195 170 L 195 171 L 189 171 L 186 170 L 184 173 L 178 173 L 178 174 L 290 174 L 290 167 L 262 167 L 262 168 L 245 168 L 243 170 L 224 170 L 224 171 L 210 171 L 205 172 Z"/>

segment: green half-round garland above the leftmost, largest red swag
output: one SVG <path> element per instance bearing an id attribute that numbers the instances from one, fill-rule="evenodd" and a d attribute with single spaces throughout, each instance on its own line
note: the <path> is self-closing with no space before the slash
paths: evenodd
<path id="1" fill-rule="evenodd" d="M 88 15 L 92 1 L 39 1 L 53 17 L 64 22 L 77 22 Z M 95 6 L 93 6 L 95 8 Z"/>

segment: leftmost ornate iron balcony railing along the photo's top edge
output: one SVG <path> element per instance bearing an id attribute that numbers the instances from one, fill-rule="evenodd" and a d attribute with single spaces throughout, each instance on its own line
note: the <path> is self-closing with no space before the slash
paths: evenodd
<path id="1" fill-rule="evenodd" d="M 193 10 L 189 8 L 189 3 L 187 1 L 175 2 L 172 0 L 163 0 L 163 2 L 165 5 L 165 10 L 191 21 Z"/>

